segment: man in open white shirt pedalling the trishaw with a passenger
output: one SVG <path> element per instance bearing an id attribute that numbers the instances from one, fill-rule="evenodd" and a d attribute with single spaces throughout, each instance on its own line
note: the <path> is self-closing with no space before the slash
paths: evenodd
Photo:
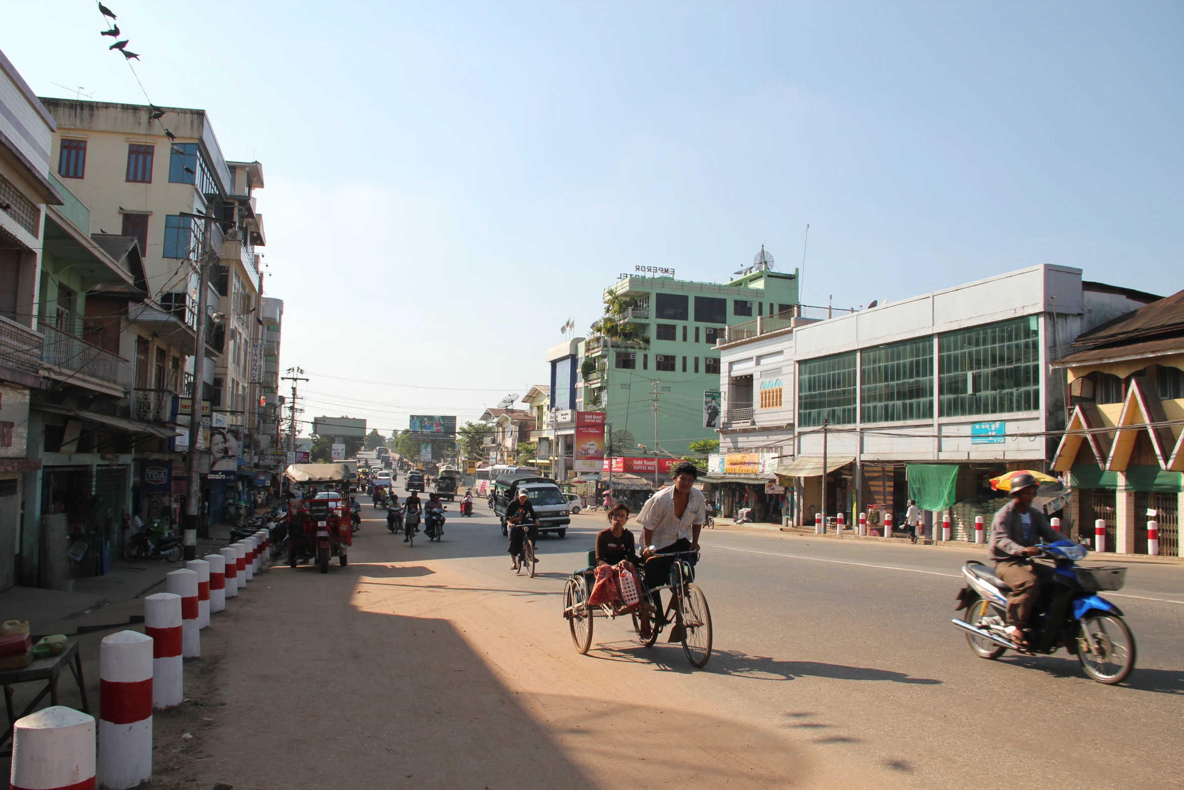
<path id="1" fill-rule="evenodd" d="M 707 519 L 707 497 L 695 488 L 699 479 L 699 467 L 684 461 L 674 468 L 674 486 L 663 488 L 651 496 L 642 512 L 637 514 L 637 524 L 642 526 L 642 558 L 645 560 L 643 576 L 646 587 L 659 587 L 667 583 L 674 558 L 662 554 L 699 551 L 699 533 Z M 691 559 L 694 565 L 695 560 Z M 657 611 L 662 611 L 662 596 L 650 593 Z M 650 619 L 644 610 L 641 614 L 642 638 L 649 638 Z M 671 642 L 681 642 L 682 634 L 671 629 Z"/>

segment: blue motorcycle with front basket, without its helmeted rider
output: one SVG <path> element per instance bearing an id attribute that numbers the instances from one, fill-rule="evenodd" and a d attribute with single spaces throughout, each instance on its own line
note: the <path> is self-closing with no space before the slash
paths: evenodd
<path id="1" fill-rule="evenodd" d="M 1032 610 L 1031 647 L 1025 654 L 1050 655 L 1064 648 L 1076 655 L 1086 675 L 1099 683 L 1120 683 L 1134 669 L 1134 636 L 1122 619 L 1122 611 L 1098 595 L 1102 590 L 1121 590 L 1125 567 L 1079 567 L 1086 547 L 1072 540 L 1057 540 L 1041 546 L 1040 557 L 1053 560 L 1053 584 L 1043 585 Z M 954 625 L 966 631 L 966 641 L 982 659 L 998 659 L 1006 650 L 1017 650 L 1004 632 L 1009 587 L 995 570 L 983 563 L 963 565 L 966 586 L 958 592 L 963 616 Z"/>

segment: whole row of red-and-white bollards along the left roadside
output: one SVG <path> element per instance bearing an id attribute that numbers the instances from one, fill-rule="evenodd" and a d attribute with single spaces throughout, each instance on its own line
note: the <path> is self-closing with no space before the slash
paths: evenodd
<path id="1" fill-rule="evenodd" d="M 184 659 L 201 655 L 210 614 L 226 609 L 263 570 L 266 529 L 166 577 L 168 592 L 144 598 L 144 632 L 120 631 L 98 655 L 99 715 L 60 705 L 19 719 L 12 736 L 15 790 L 127 790 L 152 779 L 152 717 L 180 705 Z"/>

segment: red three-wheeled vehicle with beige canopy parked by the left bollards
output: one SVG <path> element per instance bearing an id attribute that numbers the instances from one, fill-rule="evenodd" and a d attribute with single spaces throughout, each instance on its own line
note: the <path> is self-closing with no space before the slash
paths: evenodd
<path id="1" fill-rule="evenodd" d="M 316 563 L 329 572 L 329 558 L 348 565 L 353 531 L 349 513 L 349 467 L 343 463 L 294 463 L 284 476 L 298 483 L 302 499 L 288 510 L 288 565 Z"/>

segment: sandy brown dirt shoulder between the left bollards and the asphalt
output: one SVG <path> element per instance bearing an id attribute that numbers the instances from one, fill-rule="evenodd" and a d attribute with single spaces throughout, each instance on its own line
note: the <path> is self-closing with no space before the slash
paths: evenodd
<path id="1" fill-rule="evenodd" d="M 191 702 L 157 717 L 153 786 L 906 786 L 794 738 L 804 714 L 701 693 L 681 650 L 622 622 L 578 655 L 565 572 L 417 560 L 367 526 L 347 567 L 271 569 L 202 632 Z"/>

